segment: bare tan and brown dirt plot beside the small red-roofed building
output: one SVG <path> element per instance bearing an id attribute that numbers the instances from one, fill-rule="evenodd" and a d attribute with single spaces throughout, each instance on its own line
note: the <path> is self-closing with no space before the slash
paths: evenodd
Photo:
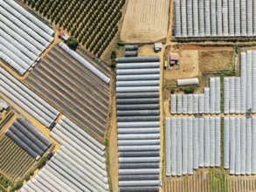
<path id="1" fill-rule="evenodd" d="M 194 78 L 204 72 L 227 71 L 232 66 L 232 47 L 183 45 L 179 49 L 171 47 L 170 51 L 179 53 L 179 69 L 171 67 L 166 70 L 164 79 L 167 80 Z"/>

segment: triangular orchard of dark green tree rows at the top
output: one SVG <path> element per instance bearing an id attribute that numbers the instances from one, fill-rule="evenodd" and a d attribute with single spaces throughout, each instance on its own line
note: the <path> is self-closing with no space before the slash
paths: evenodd
<path id="1" fill-rule="evenodd" d="M 24 0 L 100 57 L 118 31 L 125 0 Z"/>

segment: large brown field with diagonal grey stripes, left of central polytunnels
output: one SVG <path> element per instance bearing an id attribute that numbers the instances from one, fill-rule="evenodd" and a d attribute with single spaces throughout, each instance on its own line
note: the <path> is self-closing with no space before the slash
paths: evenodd
<path id="1" fill-rule="evenodd" d="M 95 67 L 109 75 L 107 69 Z M 24 82 L 87 133 L 103 140 L 107 127 L 109 85 L 66 51 L 59 46 L 53 47 Z"/>

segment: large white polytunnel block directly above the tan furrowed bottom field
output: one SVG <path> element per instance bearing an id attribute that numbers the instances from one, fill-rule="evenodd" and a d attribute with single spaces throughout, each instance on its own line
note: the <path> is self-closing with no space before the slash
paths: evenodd
<path id="1" fill-rule="evenodd" d="M 192 175 L 203 167 L 219 167 L 220 117 L 165 119 L 166 175 Z"/>

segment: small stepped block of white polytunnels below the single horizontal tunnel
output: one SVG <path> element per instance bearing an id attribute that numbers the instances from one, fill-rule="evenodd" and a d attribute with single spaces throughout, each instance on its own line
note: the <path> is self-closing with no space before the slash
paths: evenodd
<path id="1" fill-rule="evenodd" d="M 210 78 L 210 87 L 201 94 L 171 94 L 171 114 L 220 113 L 220 79 Z"/>

